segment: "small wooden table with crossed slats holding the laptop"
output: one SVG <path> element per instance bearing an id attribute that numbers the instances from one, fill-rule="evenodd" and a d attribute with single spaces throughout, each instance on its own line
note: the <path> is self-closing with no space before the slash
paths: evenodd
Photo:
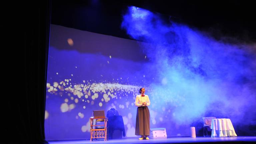
<path id="1" fill-rule="evenodd" d="M 104 141 L 107 141 L 107 122 L 108 122 L 108 118 L 107 117 L 103 117 L 103 118 L 89 118 L 90 119 L 90 125 L 91 125 L 91 139 L 90 141 L 92 141 L 93 138 L 104 138 Z M 94 119 L 104 119 L 104 125 L 97 125 L 97 123 L 95 125 L 93 125 L 93 120 Z M 101 129 L 93 129 L 93 127 L 97 127 L 97 126 L 104 126 L 104 128 Z"/>

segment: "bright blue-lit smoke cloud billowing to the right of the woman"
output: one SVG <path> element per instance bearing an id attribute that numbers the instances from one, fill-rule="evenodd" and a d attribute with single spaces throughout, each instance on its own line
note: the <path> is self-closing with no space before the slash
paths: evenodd
<path id="1" fill-rule="evenodd" d="M 178 124 L 207 115 L 239 123 L 245 114 L 256 114 L 255 44 L 216 41 L 188 26 L 165 24 L 158 14 L 134 6 L 123 15 L 122 28 L 146 42 L 142 50 L 157 70 L 156 82 L 151 83 L 150 114 L 167 107 L 170 121 Z"/>

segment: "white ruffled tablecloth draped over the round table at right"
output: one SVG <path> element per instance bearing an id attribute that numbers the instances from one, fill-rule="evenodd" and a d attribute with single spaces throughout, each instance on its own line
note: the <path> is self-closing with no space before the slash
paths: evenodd
<path id="1" fill-rule="evenodd" d="M 236 137 L 236 133 L 230 119 L 212 119 L 212 137 Z M 218 135 L 218 136 L 217 136 Z"/>

